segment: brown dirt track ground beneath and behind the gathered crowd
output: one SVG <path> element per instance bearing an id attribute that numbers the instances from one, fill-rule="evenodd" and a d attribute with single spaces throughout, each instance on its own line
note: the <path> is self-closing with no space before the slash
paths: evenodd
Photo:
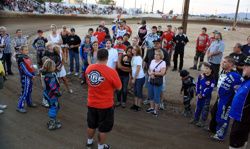
<path id="1" fill-rule="evenodd" d="M 36 64 L 35 51 L 31 44 L 36 35 L 33 35 L 38 29 L 49 30 L 50 24 L 56 24 L 61 27 L 63 24 L 68 27 L 74 26 L 76 34 L 83 38 L 88 28 L 94 29 L 100 23 L 100 19 L 80 20 L 80 19 L 39 19 L 39 18 L 1 18 L 0 25 L 7 28 L 7 32 L 15 37 L 15 30 L 20 28 L 23 35 L 30 35 L 30 56 L 33 64 Z M 106 26 L 111 30 L 113 26 L 111 20 L 105 20 Z M 133 35 L 137 31 L 139 20 L 128 20 L 127 24 L 132 28 Z M 147 20 L 149 27 L 153 25 L 162 25 L 166 30 L 166 24 L 171 23 L 174 27 L 181 25 L 181 22 L 167 22 L 165 20 Z M 237 31 L 223 31 L 222 24 L 211 23 L 189 23 L 187 36 L 190 42 L 185 48 L 184 68 L 189 70 L 193 65 L 193 56 L 195 41 L 201 32 L 201 28 L 206 26 L 208 34 L 212 35 L 212 30 L 218 29 L 222 32 L 223 41 L 226 49 L 224 56 L 232 52 L 234 43 L 245 43 L 249 36 L 249 28 L 237 28 Z M 229 26 L 229 25 L 228 25 Z M 61 28 L 58 29 L 58 33 Z M 50 32 L 45 32 L 48 37 Z M 62 128 L 55 131 L 47 129 L 48 109 L 42 107 L 42 88 L 39 79 L 36 79 L 33 85 L 32 99 L 38 104 L 37 108 L 26 107 L 27 113 L 16 112 L 16 103 L 18 101 L 21 88 L 17 65 L 12 60 L 12 70 L 14 76 L 8 76 L 5 82 L 5 89 L 0 90 L 0 103 L 7 104 L 8 108 L 0 116 L 0 148 L 1 149 L 78 149 L 85 148 L 86 130 L 87 130 L 87 85 L 81 85 L 78 77 L 67 76 L 70 88 L 74 94 L 66 91 L 64 84 L 61 86 L 63 96 L 59 98 L 61 109 L 57 118 L 62 121 Z M 65 64 L 66 70 L 69 70 L 68 64 Z M 228 148 L 229 135 L 225 141 L 216 142 L 210 139 L 212 133 L 204 131 L 195 125 L 189 124 L 191 117 L 186 118 L 181 115 L 184 106 L 182 104 L 182 95 L 179 94 L 181 88 L 181 78 L 179 73 L 172 72 L 172 67 L 167 72 L 166 90 L 164 91 L 165 105 L 167 108 L 159 112 L 158 117 L 153 117 L 144 111 L 149 107 L 144 105 L 140 112 L 134 112 L 129 109 L 133 104 L 134 98 L 128 95 L 127 108 L 116 108 L 115 125 L 108 134 L 106 142 L 114 149 L 222 149 Z M 191 76 L 196 80 L 201 72 L 191 71 Z M 144 97 L 147 90 L 144 89 Z M 211 106 L 214 104 L 216 92 L 213 92 Z M 115 96 L 116 97 L 116 96 Z M 115 98 L 116 99 L 116 98 Z M 192 109 L 194 111 L 196 99 L 192 100 Z M 207 124 L 210 120 L 207 121 Z M 229 131 L 230 133 L 230 131 Z M 228 134 L 229 134 L 228 133 Z M 97 137 L 94 138 L 94 148 L 97 148 Z"/>

